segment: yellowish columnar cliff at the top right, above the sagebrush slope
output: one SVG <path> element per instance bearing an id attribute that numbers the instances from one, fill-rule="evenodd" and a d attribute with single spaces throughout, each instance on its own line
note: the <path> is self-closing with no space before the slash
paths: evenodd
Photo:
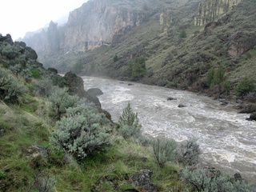
<path id="1" fill-rule="evenodd" d="M 220 18 L 233 6 L 242 0 L 205 0 L 198 6 L 198 13 L 194 17 L 194 26 L 204 26 Z"/>

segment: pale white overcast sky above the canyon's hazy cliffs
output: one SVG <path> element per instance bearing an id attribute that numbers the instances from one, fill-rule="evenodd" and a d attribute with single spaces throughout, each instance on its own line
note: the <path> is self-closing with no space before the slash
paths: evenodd
<path id="1" fill-rule="evenodd" d="M 26 32 L 46 26 L 88 0 L 4 0 L 1 1 L 0 34 L 10 34 L 13 40 Z"/>

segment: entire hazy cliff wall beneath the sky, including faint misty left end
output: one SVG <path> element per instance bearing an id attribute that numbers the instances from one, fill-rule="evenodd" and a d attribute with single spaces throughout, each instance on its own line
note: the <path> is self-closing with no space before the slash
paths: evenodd
<path id="1" fill-rule="evenodd" d="M 94 0 L 70 12 L 66 26 L 50 22 L 48 30 L 22 39 L 39 55 L 62 51 L 92 50 L 110 44 L 119 30 L 139 26 L 145 18 L 142 9 L 131 9 L 113 0 Z"/>

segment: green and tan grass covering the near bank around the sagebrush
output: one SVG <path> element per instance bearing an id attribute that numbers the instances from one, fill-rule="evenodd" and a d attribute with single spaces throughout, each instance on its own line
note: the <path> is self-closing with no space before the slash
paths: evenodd
<path id="1" fill-rule="evenodd" d="M 46 114 L 47 101 L 31 98 L 30 102 L 37 107 L 0 103 L 0 126 L 4 130 L 0 136 L 0 167 L 6 174 L 0 178 L 1 191 L 27 190 L 34 182 L 34 175 L 40 174 L 57 181 L 56 191 L 122 191 L 134 187 L 127 175 L 141 169 L 153 170 L 153 180 L 161 191 L 184 187 L 174 174 L 178 173 L 178 166 L 168 164 L 160 169 L 150 147 L 126 142 L 118 136 L 113 136 L 113 145 L 103 154 L 91 154 L 82 162 L 64 162 L 62 152 L 49 145 L 54 121 L 42 115 Z M 34 145 L 48 147 L 49 157 L 31 157 L 28 150 Z M 117 180 L 116 187 L 113 180 Z"/>

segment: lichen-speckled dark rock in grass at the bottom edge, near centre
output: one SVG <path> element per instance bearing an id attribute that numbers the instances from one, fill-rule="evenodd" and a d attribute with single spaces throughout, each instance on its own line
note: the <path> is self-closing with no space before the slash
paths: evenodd
<path id="1" fill-rule="evenodd" d="M 140 170 L 130 176 L 135 186 L 139 186 L 139 191 L 158 192 L 158 186 L 151 180 L 153 172 L 151 170 Z"/>

